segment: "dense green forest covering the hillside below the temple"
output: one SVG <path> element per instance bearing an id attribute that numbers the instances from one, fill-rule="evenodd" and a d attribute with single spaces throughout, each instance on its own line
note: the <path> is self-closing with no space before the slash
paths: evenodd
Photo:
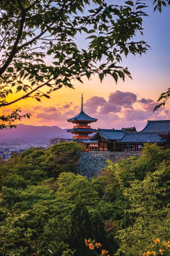
<path id="1" fill-rule="evenodd" d="M 0 163 L 0 255 L 168 256 L 169 151 L 148 143 L 90 180 L 75 173 L 76 151 L 60 143 Z"/>

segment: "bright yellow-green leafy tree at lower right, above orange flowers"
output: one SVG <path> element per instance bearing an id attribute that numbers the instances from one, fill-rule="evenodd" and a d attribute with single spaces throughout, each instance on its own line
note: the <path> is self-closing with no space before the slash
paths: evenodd
<path id="1" fill-rule="evenodd" d="M 159 199 L 166 191 L 158 186 L 160 176 L 159 171 L 148 173 L 143 181 L 135 180 L 124 190 L 124 196 L 130 201 L 130 208 L 124 211 L 130 214 L 133 224 L 118 232 L 120 249 L 116 255 L 142 255 L 156 238 L 168 241 L 170 212 Z"/>

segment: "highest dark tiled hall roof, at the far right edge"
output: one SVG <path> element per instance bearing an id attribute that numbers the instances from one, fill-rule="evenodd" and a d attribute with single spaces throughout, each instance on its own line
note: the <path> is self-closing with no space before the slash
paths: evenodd
<path id="1" fill-rule="evenodd" d="M 141 132 L 143 131 L 170 131 L 170 120 L 148 120 L 147 125 Z"/>

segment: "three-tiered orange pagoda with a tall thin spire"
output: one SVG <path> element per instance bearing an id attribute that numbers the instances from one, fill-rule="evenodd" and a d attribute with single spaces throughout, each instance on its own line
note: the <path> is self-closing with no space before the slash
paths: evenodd
<path id="1" fill-rule="evenodd" d="M 71 132 L 75 134 L 73 136 L 74 141 L 82 142 L 86 139 L 89 139 L 91 136 L 89 134 L 93 132 L 97 132 L 96 129 L 92 129 L 90 125 L 97 121 L 96 118 L 92 118 L 84 113 L 83 111 L 83 94 L 82 94 L 82 102 L 81 102 L 81 112 L 74 116 L 73 118 L 67 119 L 68 122 L 75 124 L 73 129 L 68 129 L 67 132 Z"/>

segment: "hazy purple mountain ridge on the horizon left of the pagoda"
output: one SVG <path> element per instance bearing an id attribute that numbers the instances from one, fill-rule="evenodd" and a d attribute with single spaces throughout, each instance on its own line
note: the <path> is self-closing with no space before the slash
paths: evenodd
<path id="1" fill-rule="evenodd" d="M 62 137 L 72 138 L 72 134 L 67 133 L 66 129 L 61 129 L 58 126 L 33 126 L 33 125 L 17 125 L 17 128 L 0 130 L 0 143 L 13 141 L 20 142 L 36 142 L 44 141 L 45 143 L 49 138 Z"/>

